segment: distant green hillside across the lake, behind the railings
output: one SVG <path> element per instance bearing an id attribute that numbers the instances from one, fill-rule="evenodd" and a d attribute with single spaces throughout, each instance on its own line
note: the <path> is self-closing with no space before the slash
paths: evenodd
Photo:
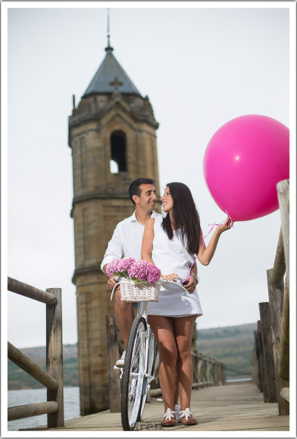
<path id="1" fill-rule="evenodd" d="M 198 329 L 196 349 L 201 354 L 222 361 L 227 368 L 250 372 L 254 331 L 257 324 Z M 22 352 L 46 369 L 45 346 L 22 349 Z M 63 346 L 63 373 L 65 386 L 78 386 L 77 344 Z M 227 377 L 242 376 L 226 371 Z M 8 390 L 42 388 L 42 384 L 8 360 Z"/>

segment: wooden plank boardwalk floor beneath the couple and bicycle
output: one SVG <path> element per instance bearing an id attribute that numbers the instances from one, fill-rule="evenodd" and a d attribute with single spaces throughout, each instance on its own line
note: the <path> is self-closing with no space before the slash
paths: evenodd
<path id="1" fill-rule="evenodd" d="M 263 394 L 252 381 L 193 390 L 192 410 L 198 424 L 161 428 L 163 403 L 147 403 L 138 431 L 289 431 L 289 417 L 278 416 L 277 403 L 264 403 Z M 60 431 L 122 431 L 120 413 L 109 410 L 65 421 L 64 428 L 30 429 Z M 173 435 L 175 436 L 175 434 Z"/>

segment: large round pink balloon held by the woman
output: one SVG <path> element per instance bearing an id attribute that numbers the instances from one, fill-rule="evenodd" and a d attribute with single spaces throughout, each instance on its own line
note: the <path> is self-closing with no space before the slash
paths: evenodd
<path id="1" fill-rule="evenodd" d="M 233 220 L 274 212 L 277 182 L 289 178 L 289 128 L 261 115 L 229 120 L 206 147 L 203 174 L 211 196 Z"/>

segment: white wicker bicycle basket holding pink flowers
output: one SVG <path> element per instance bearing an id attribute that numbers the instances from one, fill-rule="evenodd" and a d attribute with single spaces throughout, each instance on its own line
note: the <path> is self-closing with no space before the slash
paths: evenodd
<path id="1" fill-rule="evenodd" d="M 120 278 L 120 298 L 125 302 L 158 302 L 161 282 L 152 283 L 144 280 Z"/>

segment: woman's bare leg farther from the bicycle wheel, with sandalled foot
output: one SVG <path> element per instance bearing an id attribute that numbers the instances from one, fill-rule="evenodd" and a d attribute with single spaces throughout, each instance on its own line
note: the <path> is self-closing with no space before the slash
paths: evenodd
<path id="1" fill-rule="evenodd" d="M 180 398 L 180 410 L 191 407 L 191 394 L 193 385 L 193 366 L 191 354 L 192 334 L 197 316 L 173 318 L 173 327 L 178 347 L 178 386 Z M 182 418 L 182 422 L 186 419 Z M 196 419 L 189 418 L 187 422 L 195 422 Z"/>

